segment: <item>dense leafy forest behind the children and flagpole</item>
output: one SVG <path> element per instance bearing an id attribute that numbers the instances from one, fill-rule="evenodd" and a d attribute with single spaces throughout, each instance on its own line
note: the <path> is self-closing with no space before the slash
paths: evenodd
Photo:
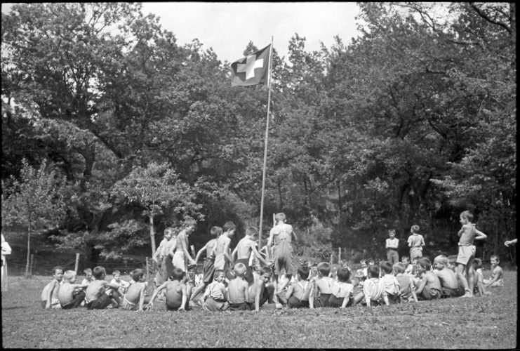
<path id="1" fill-rule="evenodd" d="M 263 242 L 284 212 L 300 256 L 384 257 L 389 228 L 406 253 L 413 224 L 456 253 L 469 209 L 477 252 L 515 260 L 516 6 L 432 4 L 360 3 L 350 43 L 274 48 Z M 150 256 L 186 216 L 196 249 L 258 227 L 267 86 L 232 87 L 230 62 L 140 4 L 16 4 L 1 25 L 1 224 L 27 252 L 101 263 Z"/>

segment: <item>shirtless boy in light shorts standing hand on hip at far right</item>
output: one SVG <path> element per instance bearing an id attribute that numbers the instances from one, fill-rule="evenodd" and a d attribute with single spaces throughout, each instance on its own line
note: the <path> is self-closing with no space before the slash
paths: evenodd
<path id="1" fill-rule="evenodd" d="M 473 258 L 475 256 L 474 240 L 486 239 L 486 234 L 476 230 L 475 225 L 472 224 L 473 215 L 469 211 L 460 213 L 460 223 L 462 228 L 458 232 L 459 239 L 459 253 L 457 255 L 457 276 L 464 286 L 465 294 L 462 298 L 472 298 L 473 288 L 475 285 L 473 274 Z M 466 274 L 464 274 L 466 273 Z"/>

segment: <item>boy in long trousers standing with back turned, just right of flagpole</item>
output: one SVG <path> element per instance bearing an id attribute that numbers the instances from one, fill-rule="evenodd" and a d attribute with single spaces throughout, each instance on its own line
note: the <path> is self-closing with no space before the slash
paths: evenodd
<path id="1" fill-rule="evenodd" d="M 280 275 L 281 269 L 284 268 L 286 272 L 287 282 L 291 281 L 291 276 L 294 272 L 293 265 L 293 246 L 291 244 L 293 238 L 298 240 L 296 234 L 293 231 L 293 226 L 286 224 L 285 213 L 276 213 L 274 216 L 276 225 L 271 228 L 269 232 L 269 239 L 267 239 L 267 246 L 274 244 L 273 249 L 273 260 L 274 260 L 274 274 L 273 274 L 273 285 L 274 292 L 284 290 L 286 283 L 281 284 L 278 287 L 278 276 Z M 307 276 L 309 272 L 307 272 Z M 304 279 L 307 278 L 305 276 Z"/>

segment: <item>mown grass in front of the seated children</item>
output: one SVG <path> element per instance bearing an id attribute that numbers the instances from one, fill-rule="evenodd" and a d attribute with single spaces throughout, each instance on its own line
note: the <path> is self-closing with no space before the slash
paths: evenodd
<path id="1" fill-rule="evenodd" d="M 441 348 L 516 347 L 517 274 L 476 298 L 345 310 L 260 312 L 43 310 L 49 277 L 9 277 L 2 347 Z"/>

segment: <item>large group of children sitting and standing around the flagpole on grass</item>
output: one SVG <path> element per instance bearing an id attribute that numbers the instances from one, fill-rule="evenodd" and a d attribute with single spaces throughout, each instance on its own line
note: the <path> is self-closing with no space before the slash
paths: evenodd
<path id="1" fill-rule="evenodd" d="M 361 260 L 361 269 L 354 277 L 346 264 L 331 272 L 331 265 L 326 262 L 306 263 L 298 267 L 295 279 L 286 274 L 284 282 L 277 282 L 272 262 L 256 249 L 254 239 L 258 232 L 255 228 L 248 227 L 244 238 L 230 252 L 229 241 L 235 227 L 226 223 L 225 231 L 213 227 L 211 232 L 218 238 L 208 241 L 195 260 L 190 260 L 192 265 L 186 266 L 187 269 L 173 268 L 168 279 L 156 285 L 150 298 L 146 296 L 146 274 L 140 269 L 131 272 L 131 282 L 122 280 L 119 271 L 113 272 L 114 279 L 107 282 L 105 268 L 98 266 L 93 271 L 86 270 L 86 279 L 76 284 L 74 271 L 64 272 L 61 267 L 55 267 L 53 280 L 41 294 L 42 306 L 72 308 L 84 305 L 88 309 L 112 306 L 142 311 L 152 309 L 154 300 L 159 298 L 164 300 L 166 310 L 190 310 L 199 305 L 210 311 L 258 311 L 260 308 L 279 309 L 282 305 L 289 308 L 345 308 L 356 304 L 371 307 L 470 297 L 474 293 L 482 296 L 487 293 L 487 287 L 503 285 L 503 274 L 498 266 L 498 256 L 493 255 L 491 278 L 484 279 L 481 260 L 474 258 L 472 244 L 474 239 L 484 239 L 486 235 L 476 230 L 471 220 L 471 213 L 461 213 L 458 255 L 436 256 L 433 265 L 429 258 L 422 257 L 424 239 L 418 234 L 418 226 L 414 225 L 408 239 L 411 263 L 408 256 L 395 262 L 392 251 L 396 250 L 397 243 L 395 232 L 390 231 L 388 260 L 378 265 L 373 260 Z M 193 263 L 202 251 L 206 251 L 206 260 L 200 278 L 195 274 L 196 265 Z M 279 272 L 277 267 L 276 270 Z M 278 291 L 276 286 L 281 290 Z M 197 298 L 199 293 L 202 295 Z"/>

